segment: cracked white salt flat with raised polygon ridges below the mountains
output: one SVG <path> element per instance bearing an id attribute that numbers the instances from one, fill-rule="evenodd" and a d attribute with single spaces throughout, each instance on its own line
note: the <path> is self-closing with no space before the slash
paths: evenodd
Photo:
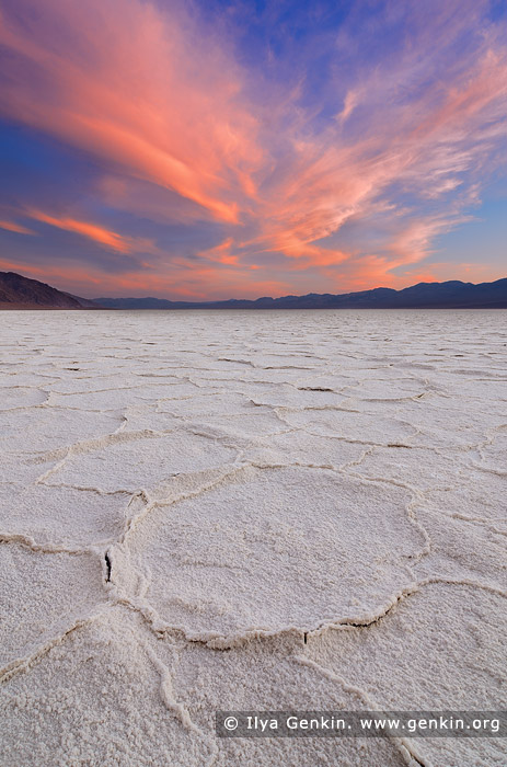
<path id="1" fill-rule="evenodd" d="M 2 767 L 504 765 L 214 712 L 507 709 L 505 320 L 5 312 Z"/>

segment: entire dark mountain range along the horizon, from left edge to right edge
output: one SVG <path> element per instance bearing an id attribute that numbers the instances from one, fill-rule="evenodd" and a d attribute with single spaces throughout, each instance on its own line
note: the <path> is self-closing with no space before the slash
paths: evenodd
<path id="1" fill-rule="evenodd" d="M 506 309 L 507 278 L 494 283 L 418 283 L 402 290 L 373 288 L 334 295 L 265 296 L 256 300 L 170 301 L 163 298 L 81 298 L 30 279 L 0 272 L 1 309 Z"/>

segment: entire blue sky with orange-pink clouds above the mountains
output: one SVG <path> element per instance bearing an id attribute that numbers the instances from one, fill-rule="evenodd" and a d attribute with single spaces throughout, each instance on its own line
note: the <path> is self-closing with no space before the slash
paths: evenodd
<path id="1" fill-rule="evenodd" d="M 0 270 L 215 300 L 507 276 L 505 0 L 2 0 Z"/>

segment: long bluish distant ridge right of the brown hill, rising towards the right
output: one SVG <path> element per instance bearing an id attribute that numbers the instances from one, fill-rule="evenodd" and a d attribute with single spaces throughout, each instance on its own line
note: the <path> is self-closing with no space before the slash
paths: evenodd
<path id="1" fill-rule="evenodd" d="M 494 283 L 418 283 L 403 290 L 373 288 L 342 295 L 234 299 L 227 301 L 169 301 L 163 298 L 96 298 L 111 309 L 507 309 L 507 278 Z"/>

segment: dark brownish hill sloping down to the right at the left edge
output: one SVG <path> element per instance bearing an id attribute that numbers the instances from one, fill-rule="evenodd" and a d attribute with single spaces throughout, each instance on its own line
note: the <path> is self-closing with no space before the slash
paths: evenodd
<path id="1" fill-rule="evenodd" d="M 100 309 L 88 298 L 57 290 L 15 272 L 0 272 L 1 309 Z"/>

